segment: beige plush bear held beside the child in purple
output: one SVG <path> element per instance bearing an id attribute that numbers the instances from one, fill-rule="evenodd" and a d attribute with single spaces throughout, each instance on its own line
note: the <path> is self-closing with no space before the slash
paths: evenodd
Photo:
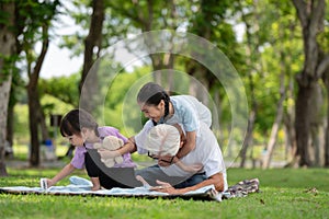
<path id="1" fill-rule="evenodd" d="M 124 145 L 124 141 L 115 136 L 106 136 L 102 143 L 94 143 L 94 149 L 106 149 L 106 150 L 117 150 Z M 109 158 L 109 159 L 101 159 L 101 161 L 107 166 L 113 168 L 116 163 L 122 163 L 123 158 L 122 155 L 115 157 L 115 158 Z"/>

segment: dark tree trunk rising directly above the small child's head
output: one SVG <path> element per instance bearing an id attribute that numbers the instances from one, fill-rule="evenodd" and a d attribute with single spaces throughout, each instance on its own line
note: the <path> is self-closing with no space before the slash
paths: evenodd
<path id="1" fill-rule="evenodd" d="M 80 91 L 80 107 L 92 113 L 95 110 L 97 97 L 100 95 L 98 82 L 98 65 L 91 70 L 102 49 L 102 30 L 104 21 L 104 0 L 92 1 L 92 15 L 89 34 L 84 39 L 84 58 Z"/>

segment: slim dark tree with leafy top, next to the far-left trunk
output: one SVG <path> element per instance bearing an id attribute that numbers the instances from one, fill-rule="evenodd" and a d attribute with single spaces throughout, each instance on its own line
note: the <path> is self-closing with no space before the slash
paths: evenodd
<path id="1" fill-rule="evenodd" d="M 57 13 L 58 5 L 58 0 L 16 2 L 16 48 L 18 54 L 25 60 L 29 78 L 26 90 L 31 135 L 30 164 L 32 166 L 39 164 L 38 125 L 41 125 L 42 140 L 49 138 L 45 116 L 39 103 L 37 82 L 44 58 L 48 50 L 52 20 Z M 35 51 L 38 42 L 41 42 L 39 54 Z"/>

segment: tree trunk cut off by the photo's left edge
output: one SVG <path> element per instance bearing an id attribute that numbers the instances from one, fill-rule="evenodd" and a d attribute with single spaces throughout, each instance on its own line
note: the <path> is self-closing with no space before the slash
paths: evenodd
<path id="1" fill-rule="evenodd" d="M 4 176 L 8 175 L 4 163 L 4 145 L 7 139 L 8 103 L 12 80 L 12 66 L 8 59 L 14 54 L 15 45 L 14 34 L 12 33 L 15 20 L 14 2 L 1 2 L 0 9 L 3 13 L 8 14 L 8 20 L 0 24 L 0 176 Z"/>

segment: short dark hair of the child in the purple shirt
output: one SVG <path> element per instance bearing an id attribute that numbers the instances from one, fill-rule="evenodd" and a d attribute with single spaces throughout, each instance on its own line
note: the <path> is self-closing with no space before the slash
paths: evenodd
<path id="1" fill-rule="evenodd" d="M 63 137 L 80 135 L 82 128 L 93 129 L 99 136 L 98 123 L 88 112 L 77 108 L 68 112 L 60 122 L 60 134 Z"/>

